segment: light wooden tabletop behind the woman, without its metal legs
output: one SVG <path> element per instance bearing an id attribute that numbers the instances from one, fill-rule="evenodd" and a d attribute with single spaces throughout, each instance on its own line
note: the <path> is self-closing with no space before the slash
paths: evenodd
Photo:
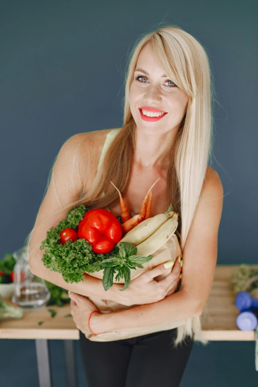
<path id="1" fill-rule="evenodd" d="M 211 341 L 254 341 L 254 331 L 241 331 L 236 325 L 239 311 L 235 307 L 235 295 L 229 278 L 236 265 L 217 265 L 215 277 L 207 302 L 208 315 L 202 322 L 203 334 Z M 258 267 L 258 265 L 257 265 Z M 57 314 L 51 317 L 47 309 Z M 70 305 L 63 307 L 43 306 L 39 309 L 24 311 L 20 320 L 7 319 L 0 322 L 0 339 L 60 339 L 79 340 L 79 331 L 70 313 Z M 39 321 L 44 321 L 38 325 Z"/>

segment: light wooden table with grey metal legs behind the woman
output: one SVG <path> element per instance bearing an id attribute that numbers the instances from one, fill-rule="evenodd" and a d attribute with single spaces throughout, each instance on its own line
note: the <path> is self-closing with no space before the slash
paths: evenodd
<path id="1" fill-rule="evenodd" d="M 236 325 L 239 311 L 235 307 L 235 295 L 229 284 L 232 268 L 236 265 L 217 265 L 207 302 L 208 315 L 202 324 L 203 335 L 211 341 L 254 341 L 255 331 L 241 331 Z M 7 300 L 9 301 L 9 300 Z M 11 302 L 11 301 L 10 301 Z M 47 309 L 54 309 L 54 317 Z M 37 364 L 40 387 L 51 386 L 48 340 L 64 340 L 67 386 L 77 386 L 74 340 L 79 340 L 79 330 L 70 313 L 70 305 L 48 306 L 24 311 L 20 320 L 8 319 L 0 323 L 0 339 L 36 340 Z M 39 321 L 44 321 L 38 325 Z"/>

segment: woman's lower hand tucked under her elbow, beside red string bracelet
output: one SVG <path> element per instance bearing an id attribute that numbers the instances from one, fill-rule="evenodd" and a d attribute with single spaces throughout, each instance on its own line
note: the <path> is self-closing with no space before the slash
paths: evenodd
<path id="1" fill-rule="evenodd" d="M 93 302 L 89 301 L 87 297 L 81 296 L 80 294 L 71 292 L 69 297 L 71 299 L 71 315 L 73 316 L 76 327 L 83 332 L 86 337 L 89 334 L 91 335 L 92 333 L 88 329 L 88 318 L 90 313 L 93 310 L 98 310 L 98 308 Z M 101 317 L 103 317 L 101 313 L 93 313 L 90 317 L 89 326 L 91 331 L 95 334 L 102 333 L 100 324 L 100 321 L 102 321 Z"/>

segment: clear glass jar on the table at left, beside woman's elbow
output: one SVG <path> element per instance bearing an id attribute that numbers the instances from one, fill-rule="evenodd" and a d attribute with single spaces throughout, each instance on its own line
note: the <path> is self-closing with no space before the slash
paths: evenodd
<path id="1" fill-rule="evenodd" d="M 35 276 L 30 271 L 29 258 L 26 246 L 13 254 L 16 264 L 14 266 L 14 292 L 11 301 L 22 306 L 24 310 L 41 307 L 50 299 L 50 292 L 44 280 Z"/>

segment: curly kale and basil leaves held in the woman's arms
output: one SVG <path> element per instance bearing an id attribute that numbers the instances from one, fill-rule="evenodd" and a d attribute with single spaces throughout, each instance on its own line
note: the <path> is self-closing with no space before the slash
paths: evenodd
<path id="1" fill-rule="evenodd" d="M 46 232 L 46 239 L 40 246 L 40 250 L 45 249 L 43 264 L 51 271 L 61 273 L 67 283 L 84 281 L 84 273 L 90 274 L 103 269 L 102 283 L 105 291 L 112 287 L 114 273 L 118 271 L 116 280 L 125 279 L 125 286 L 121 289 L 123 291 L 130 283 L 130 269 L 143 268 L 142 263 L 148 262 L 153 256 L 137 256 L 137 248 L 128 242 L 121 242 L 119 247 L 115 246 L 106 254 L 94 253 L 91 245 L 83 238 L 74 242 L 70 239 L 62 244 L 60 232 L 65 228 L 77 230 L 87 211 L 89 209 L 84 205 L 73 208 L 67 213 L 65 220 Z"/>

